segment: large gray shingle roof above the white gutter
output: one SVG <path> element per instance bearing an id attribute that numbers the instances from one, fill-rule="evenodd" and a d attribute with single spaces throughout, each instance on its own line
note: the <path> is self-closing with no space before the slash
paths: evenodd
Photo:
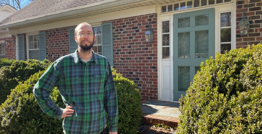
<path id="1" fill-rule="evenodd" d="M 0 25 L 62 13 L 107 1 L 109 0 L 34 0 L 16 13 L 4 19 L 0 22 Z"/>

